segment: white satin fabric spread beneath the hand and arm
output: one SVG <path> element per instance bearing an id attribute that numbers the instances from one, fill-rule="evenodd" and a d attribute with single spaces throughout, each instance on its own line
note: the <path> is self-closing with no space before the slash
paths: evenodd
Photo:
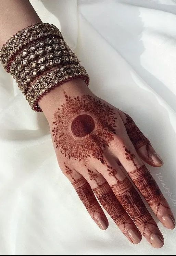
<path id="1" fill-rule="evenodd" d="M 175 213 L 176 1 L 31 3 L 43 21 L 61 27 L 93 93 L 130 114 L 162 156 L 164 166 L 150 170 Z M 144 238 L 130 244 L 110 218 L 106 231 L 93 223 L 59 170 L 43 113 L 30 109 L 2 68 L 0 76 L 0 254 L 175 255 L 176 231 L 160 223 L 159 250 Z"/>

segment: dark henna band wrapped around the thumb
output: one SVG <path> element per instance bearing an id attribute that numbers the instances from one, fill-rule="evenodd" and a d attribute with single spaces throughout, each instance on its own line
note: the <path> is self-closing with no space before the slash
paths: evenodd
<path id="1" fill-rule="evenodd" d="M 135 148 L 139 149 L 143 145 L 147 145 L 147 144 L 151 145 L 148 138 L 146 138 L 146 136 L 144 136 L 143 133 L 139 130 L 139 128 L 137 127 L 133 119 L 129 115 L 127 114 L 125 115 L 126 115 L 125 128 Z"/>

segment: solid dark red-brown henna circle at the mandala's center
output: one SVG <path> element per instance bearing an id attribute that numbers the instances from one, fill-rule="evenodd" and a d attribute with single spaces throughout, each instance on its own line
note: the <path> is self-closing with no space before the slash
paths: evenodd
<path id="1" fill-rule="evenodd" d="M 82 114 L 75 117 L 71 124 L 71 130 L 74 136 L 78 138 L 85 137 L 93 132 L 95 129 L 95 122 L 88 114 Z"/>

